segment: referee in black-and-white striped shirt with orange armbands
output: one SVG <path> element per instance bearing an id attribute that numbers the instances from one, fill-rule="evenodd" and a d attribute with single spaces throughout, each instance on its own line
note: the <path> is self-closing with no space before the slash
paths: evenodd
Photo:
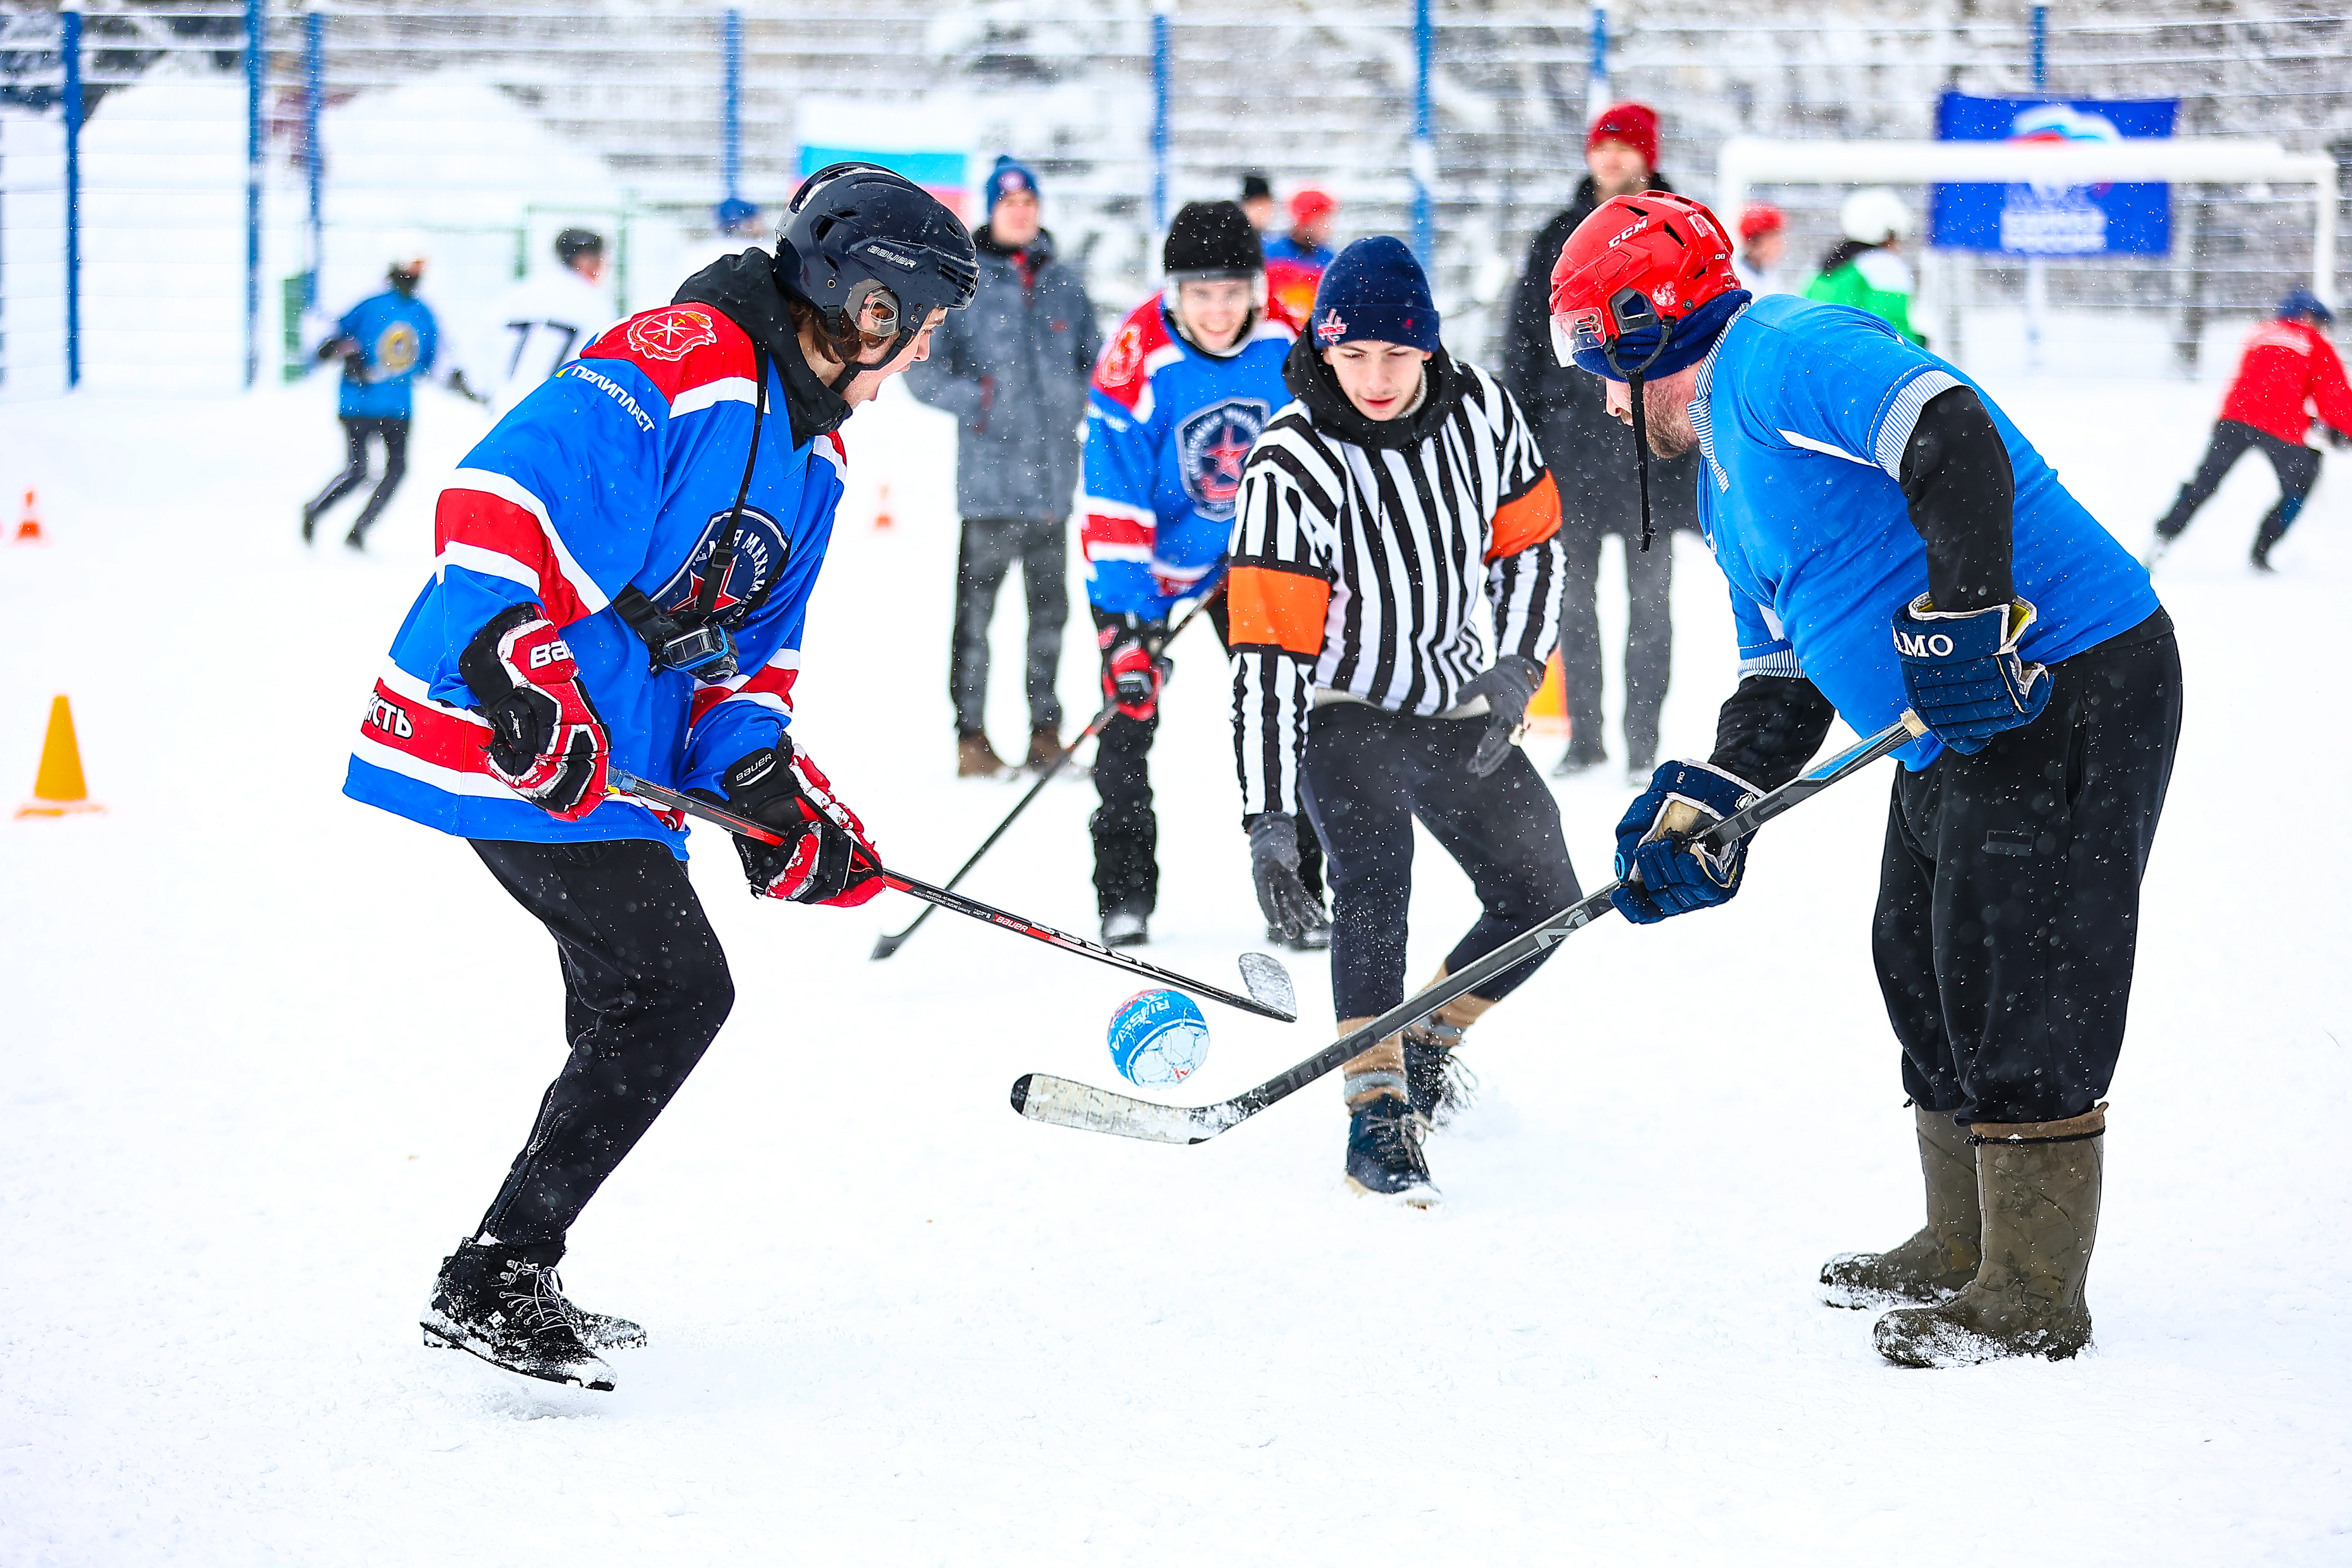
<path id="1" fill-rule="evenodd" d="M 1284 381 L 1232 524 L 1235 752 L 1270 924 L 1315 912 L 1301 809 L 1329 856 L 1345 1034 L 1404 999 L 1414 818 L 1484 910 L 1449 969 L 1578 898 L 1559 809 L 1510 743 L 1559 632 L 1559 491 L 1510 393 L 1439 348 L 1397 240 L 1341 252 Z M 1458 1103 L 1451 1053 L 1541 961 L 1345 1065 L 1352 1187 L 1437 1201 L 1421 1138 Z"/>

